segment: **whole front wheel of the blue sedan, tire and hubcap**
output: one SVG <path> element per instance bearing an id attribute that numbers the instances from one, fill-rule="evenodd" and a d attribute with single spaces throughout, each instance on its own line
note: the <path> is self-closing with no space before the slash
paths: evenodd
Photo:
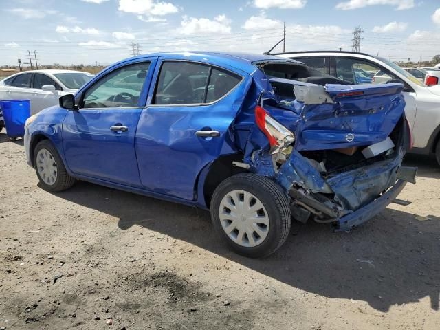
<path id="1" fill-rule="evenodd" d="M 59 192 L 72 187 L 76 181 L 67 174 L 58 151 L 49 140 L 43 140 L 34 149 L 34 167 L 44 190 Z"/>

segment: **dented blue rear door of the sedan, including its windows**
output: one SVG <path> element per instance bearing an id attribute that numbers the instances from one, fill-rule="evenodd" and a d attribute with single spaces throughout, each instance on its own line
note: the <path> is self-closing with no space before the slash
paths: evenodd
<path id="1" fill-rule="evenodd" d="M 142 112 L 136 154 L 142 185 L 195 199 L 201 169 L 222 153 L 250 77 L 193 61 L 160 61 L 151 103 Z"/>

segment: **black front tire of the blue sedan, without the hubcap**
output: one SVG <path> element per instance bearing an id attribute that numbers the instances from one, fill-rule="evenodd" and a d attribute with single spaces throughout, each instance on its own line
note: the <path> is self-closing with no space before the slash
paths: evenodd
<path id="1" fill-rule="evenodd" d="M 56 164 L 56 180 L 54 184 L 46 184 L 45 181 L 41 178 L 39 169 L 37 166 L 37 155 L 39 151 L 42 149 L 46 149 L 49 151 L 53 157 L 53 160 Z M 76 179 L 71 177 L 64 166 L 63 159 L 61 159 L 58 151 L 56 151 L 55 146 L 49 140 L 43 140 L 39 142 L 34 149 L 34 167 L 36 171 L 36 176 L 39 177 L 40 184 L 44 190 L 50 192 L 60 192 L 63 190 L 67 190 L 75 184 Z"/>

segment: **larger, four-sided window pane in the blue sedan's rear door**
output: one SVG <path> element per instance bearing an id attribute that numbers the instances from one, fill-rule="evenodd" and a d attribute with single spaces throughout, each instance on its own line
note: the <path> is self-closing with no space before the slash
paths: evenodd
<path id="1" fill-rule="evenodd" d="M 203 103 L 210 67 L 185 61 L 166 61 L 157 81 L 153 104 Z"/>

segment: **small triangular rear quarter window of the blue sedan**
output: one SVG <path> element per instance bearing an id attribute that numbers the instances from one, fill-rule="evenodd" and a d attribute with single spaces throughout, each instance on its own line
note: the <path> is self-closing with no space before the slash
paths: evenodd
<path id="1" fill-rule="evenodd" d="M 206 93 L 206 103 L 214 102 L 223 98 L 241 81 L 240 76 L 219 69 L 212 69 Z"/>

